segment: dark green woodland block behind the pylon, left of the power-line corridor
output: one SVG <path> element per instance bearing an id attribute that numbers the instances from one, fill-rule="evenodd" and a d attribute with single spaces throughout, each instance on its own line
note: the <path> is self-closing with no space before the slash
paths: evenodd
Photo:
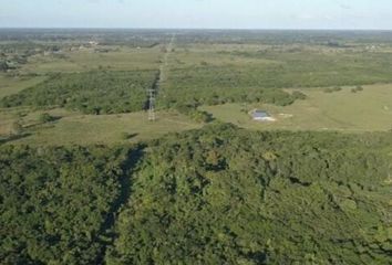
<path id="1" fill-rule="evenodd" d="M 89 72 L 54 75 L 50 80 L 1 99 L 3 107 L 60 106 L 85 114 L 130 113 L 144 109 L 146 89 L 156 72 Z"/>

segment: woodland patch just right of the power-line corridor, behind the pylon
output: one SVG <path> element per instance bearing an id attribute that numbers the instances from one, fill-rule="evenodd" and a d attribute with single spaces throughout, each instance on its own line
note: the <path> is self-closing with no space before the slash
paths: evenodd
<path id="1" fill-rule="evenodd" d="M 236 70 L 223 71 L 216 67 L 173 70 L 171 80 L 164 85 L 169 88 L 164 89 L 164 97 L 159 103 L 182 109 L 184 105 L 189 107 L 234 102 L 261 102 L 287 106 L 296 99 L 281 89 L 257 88 L 258 83 L 248 78 L 250 73 L 236 80 L 233 72 Z"/>

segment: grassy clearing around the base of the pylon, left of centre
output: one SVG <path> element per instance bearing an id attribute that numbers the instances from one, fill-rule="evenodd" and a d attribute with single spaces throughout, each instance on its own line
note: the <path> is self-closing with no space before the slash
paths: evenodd
<path id="1" fill-rule="evenodd" d="M 22 118 L 27 132 L 31 136 L 12 141 L 12 144 L 29 144 L 32 146 L 62 146 L 136 142 L 158 138 L 167 132 L 183 131 L 202 127 L 189 121 L 186 116 L 174 112 L 161 112 L 157 120 L 147 120 L 144 112 L 121 115 L 80 115 L 63 109 L 49 112 L 61 117 L 54 123 L 40 125 L 38 119 L 42 112 L 30 113 Z M 4 115 L 4 114 L 3 114 Z M 7 132 L 14 116 L 9 114 L 8 123 L 0 125 L 0 131 Z M 128 139 L 124 139 L 124 134 Z"/>

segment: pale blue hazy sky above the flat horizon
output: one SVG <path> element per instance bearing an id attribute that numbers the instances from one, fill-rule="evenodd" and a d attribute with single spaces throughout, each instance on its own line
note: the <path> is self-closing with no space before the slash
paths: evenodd
<path id="1" fill-rule="evenodd" d="M 0 0 L 6 26 L 392 30 L 392 0 Z"/>

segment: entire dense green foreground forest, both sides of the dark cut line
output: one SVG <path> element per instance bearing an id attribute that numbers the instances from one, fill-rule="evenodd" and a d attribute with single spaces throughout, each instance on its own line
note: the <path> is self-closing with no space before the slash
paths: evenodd
<path id="1" fill-rule="evenodd" d="M 390 132 L 213 123 L 137 146 L 0 147 L 2 264 L 389 264 Z"/>

